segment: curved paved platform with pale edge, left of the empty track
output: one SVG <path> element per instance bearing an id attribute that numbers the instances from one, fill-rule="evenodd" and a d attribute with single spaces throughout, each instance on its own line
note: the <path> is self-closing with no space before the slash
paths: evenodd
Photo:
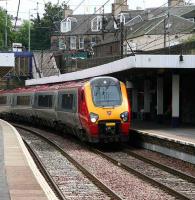
<path id="1" fill-rule="evenodd" d="M 57 200 L 17 130 L 0 120 L 0 199 Z"/>

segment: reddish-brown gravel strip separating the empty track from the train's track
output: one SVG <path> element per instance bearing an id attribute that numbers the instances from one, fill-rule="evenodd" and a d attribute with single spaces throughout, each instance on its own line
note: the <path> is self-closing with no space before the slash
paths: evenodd
<path id="1" fill-rule="evenodd" d="M 40 132 L 40 130 L 38 131 Z M 101 156 L 90 152 L 66 138 L 62 138 L 46 131 L 41 131 L 41 133 L 50 139 L 55 140 L 70 156 L 76 159 L 82 166 L 86 167 L 93 175 L 123 199 L 175 199 L 159 188 L 150 185 L 120 167 L 115 166 Z"/>

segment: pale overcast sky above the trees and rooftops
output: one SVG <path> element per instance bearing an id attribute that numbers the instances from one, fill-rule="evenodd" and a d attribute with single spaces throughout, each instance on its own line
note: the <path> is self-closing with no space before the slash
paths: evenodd
<path id="1" fill-rule="evenodd" d="M 18 7 L 18 1 L 19 0 L 7 0 L 7 10 L 8 13 L 16 16 L 17 7 Z M 52 0 L 53 4 L 56 4 L 59 1 L 61 4 L 64 2 L 64 0 Z M 66 0 L 65 2 L 68 2 L 69 0 Z M 70 5 L 70 8 L 73 10 L 77 7 L 77 5 L 82 0 L 70 0 L 68 5 Z M 98 9 L 102 4 L 104 4 L 107 0 L 84 0 L 84 2 L 81 4 L 81 6 L 74 12 L 74 14 L 87 14 L 87 13 L 93 13 L 94 10 Z M 163 4 L 166 4 L 168 0 L 128 0 L 129 9 L 136 9 L 137 7 L 140 8 L 148 8 L 148 7 L 159 7 Z M 189 0 L 186 0 L 188 2 Z M 39 7 L 39 13 L 43 14 L 44 12 L 44 3 L 49 2 L 49 0 L 20 0 L 20 10 L 19 10 L 19 18 L 22 19 L 28 19 L 29 18 L 29 9 L 30 12 L 35 14 L 37 11 L 34 9 L 37 8 L 37 2 Z M 109 3 L 105 6 L 106 12 L 111 12 L 111 4 L 114 2 L 114 0 L 110 0 Z M 191 3 L 195 3 L 195 0 L 191 0 Z M 5 8 L 6 7 L 6 0 L 0 0 L 0 7 Z"/>

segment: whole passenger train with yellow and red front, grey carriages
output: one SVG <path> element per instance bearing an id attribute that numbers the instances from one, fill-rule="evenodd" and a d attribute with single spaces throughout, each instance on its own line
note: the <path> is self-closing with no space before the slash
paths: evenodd
<path id="1" fill-rule="evenodd" d="M 89 142 L 127 141 L 129 136 L 126 87 L 112 77 L 4 91 L 0 109 L 18 119 L 60 127 Z"/>

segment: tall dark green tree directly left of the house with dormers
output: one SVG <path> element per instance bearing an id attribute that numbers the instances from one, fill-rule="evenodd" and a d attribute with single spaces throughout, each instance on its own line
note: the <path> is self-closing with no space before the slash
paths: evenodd
<path id="1" fill-rule="evenodd" d="M 37 16 L 33 20 L 31 31 L 31 49 L 32 50 L 45 50 L 50 49 L 50 37 L 52 31 L 56 30 L 56 22 L 63 19 L 63 4 L 52 5 L 51 2 L 45 5 L 45 13 L 40 19 Z"/>

